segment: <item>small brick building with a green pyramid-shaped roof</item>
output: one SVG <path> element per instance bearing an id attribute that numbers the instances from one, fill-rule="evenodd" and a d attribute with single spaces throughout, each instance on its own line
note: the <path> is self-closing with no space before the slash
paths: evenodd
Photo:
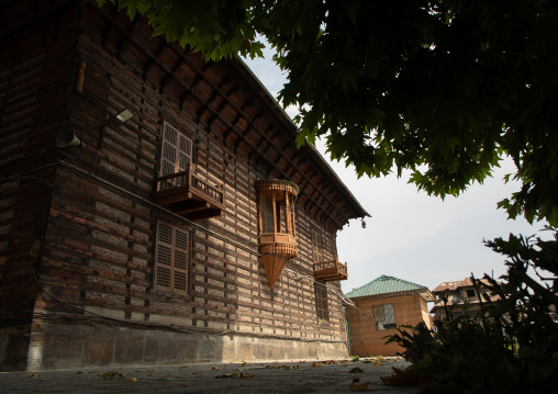
<path id="1" fill-rule="evenodd" d="M 421 322 L 432 327 L 426 303 L 434 297 L 421 284 L 381 275 L 347 296 L 356 304 L 356 308 L 347 309 L 353 356 L 395 356 L 403 349 L 397 344 L 386 345 L 384 337 L 395 334 L 397 327 Z"/>

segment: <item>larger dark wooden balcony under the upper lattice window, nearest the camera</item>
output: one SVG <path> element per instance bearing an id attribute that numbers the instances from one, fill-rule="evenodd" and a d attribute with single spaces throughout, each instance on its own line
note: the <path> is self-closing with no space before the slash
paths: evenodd
<path id="1" fill-rule="evenodd" d="M 157 178 L 155 203 L 190 221 L 221 216 L 225 210 L 224 183 L 213 185 L 188 170 Z"/>

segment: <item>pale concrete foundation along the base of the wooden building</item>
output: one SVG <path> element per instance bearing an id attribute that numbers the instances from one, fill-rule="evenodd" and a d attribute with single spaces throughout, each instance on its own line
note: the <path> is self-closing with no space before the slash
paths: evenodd
<path id="1" fill-rule="evenodd" d="M 345 342 L 41 323 L 31 334 L 26 362 L 4 370 L 316 360 L 347 356 Z"/>

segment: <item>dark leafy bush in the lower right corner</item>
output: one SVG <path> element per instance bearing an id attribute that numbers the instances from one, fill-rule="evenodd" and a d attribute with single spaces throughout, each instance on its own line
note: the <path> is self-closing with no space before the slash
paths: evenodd
<path id="1" fill-rule="evenodd" d="M 484 275 L 498 301 L 487 296 L 480 312 L 457 317 L 447 307 L 434 329 L 420 324 L 390 337 L 432 392 L 546 393 L 558 386 L 558 232 L 551 230 L 553 241 L 510 235 L 486 243 L 509 258 L 501 283 Z"/>

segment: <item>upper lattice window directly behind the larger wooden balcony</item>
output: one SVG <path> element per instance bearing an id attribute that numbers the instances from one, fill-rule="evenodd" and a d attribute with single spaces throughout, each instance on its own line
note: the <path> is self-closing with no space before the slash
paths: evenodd
<path id="1" fill-rule="evenodd" d="M 186 171 L 192 162 L 193 143 L 178 128 L 163 123 L 160 175 Z"/>

